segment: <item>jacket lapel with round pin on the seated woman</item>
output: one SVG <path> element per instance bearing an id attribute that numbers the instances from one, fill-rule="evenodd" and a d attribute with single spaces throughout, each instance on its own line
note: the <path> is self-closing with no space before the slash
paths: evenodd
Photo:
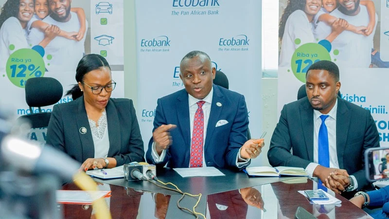
<path id="1" fill-rule="evenodd" d="M 84 96 L 79 97 L 77 100 L 77 128 L 78 136 L 80 137 L 81 147 L 83 151 L 83 160 L 86 158 L 94 157 L 94 144 L 92 138 L 92 132 L 90 130 L 87 110 L 85 110 Z M 85 129 L 84 129 L 85 128 Z M 82 131 L 82 129 L 86 130 Z M 84 134 L 83 134 L 84 133 Z"/>

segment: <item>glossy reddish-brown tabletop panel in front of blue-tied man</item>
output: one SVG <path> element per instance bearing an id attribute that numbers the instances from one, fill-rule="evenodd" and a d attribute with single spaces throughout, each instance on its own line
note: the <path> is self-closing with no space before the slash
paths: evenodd
<path id="1" fill-rule="evenodd" d="M 311 204 L 299 190 L 317 189 L 317 183 L 306 178 L 264 184 L 207 196 L 207 219 L 290 219 L 303 207 L 319 219 L 370 218 L 363 210 L 340 195 L 339 205 Z"/>

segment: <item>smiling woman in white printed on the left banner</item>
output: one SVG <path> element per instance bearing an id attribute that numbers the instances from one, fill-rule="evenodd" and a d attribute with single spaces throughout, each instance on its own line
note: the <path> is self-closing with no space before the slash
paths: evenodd
<path id="1" fill-rule="evenodd" d="M 16 50 L 30 48 L 26 26 L 34 15 L 33 0 L 7 0 L 0 14 L 0 69 L 4 69 L 8 57 Z M 57 26 L 45 29 L 45 37 L 39 43 L 46 47 L 59 34 Z"/>

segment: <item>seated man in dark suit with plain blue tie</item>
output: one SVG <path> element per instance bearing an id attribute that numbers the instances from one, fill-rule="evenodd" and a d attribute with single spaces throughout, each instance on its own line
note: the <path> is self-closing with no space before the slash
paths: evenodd
<path id="1" fill-rule="evenodd" d="M 305 78 L 307 97 L 284 105 L 267 153 L 269 163 L 305 168 L 338 194 L 362 189 L 368 185 L 364 152 L 379 147 L 370 111 L 337 97 L 335 63 L 318 61 Z"/>

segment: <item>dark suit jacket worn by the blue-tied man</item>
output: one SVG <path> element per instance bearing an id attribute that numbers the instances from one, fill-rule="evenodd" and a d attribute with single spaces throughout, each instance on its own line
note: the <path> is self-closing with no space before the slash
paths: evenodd
<path id="1" fill-rule="evenodd" d="M 313 162 L 313 110 L 307 97 L 283 106 L 267 152 L 272 166 L 306 168 Z M 336 154 L 339 168 L 354 175 L 358 190 L 368 184 L 365 150 L 379 146 L 377 127 L 370 111 L 337 97 Z M 293 155 L 290 148 L 293 148 Z"/>

